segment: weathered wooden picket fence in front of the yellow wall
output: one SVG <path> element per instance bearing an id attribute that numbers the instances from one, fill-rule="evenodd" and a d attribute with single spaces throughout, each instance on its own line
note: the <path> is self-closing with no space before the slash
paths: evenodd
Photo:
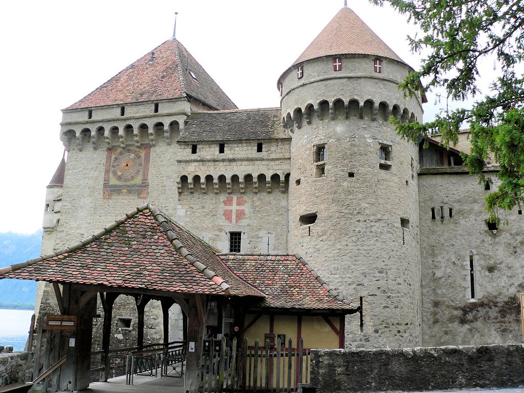
<path id="1" fill-rule="evenodd" d="M 282 344 L 279 339 L 273 347 L 266 340 L 265 346 L 260 346 L 257 339 L 255 346 L 249 347 L 246 339 L 240 351 L 236 339 L 231 346 L 225 339 L 206 341 L 198 372 L 199 391 L 296 391 L 298 384 L 309 383 L 310 351 L 304 350 L 302 339 L 297 348 L 291 339 L 287 348 Z"/>

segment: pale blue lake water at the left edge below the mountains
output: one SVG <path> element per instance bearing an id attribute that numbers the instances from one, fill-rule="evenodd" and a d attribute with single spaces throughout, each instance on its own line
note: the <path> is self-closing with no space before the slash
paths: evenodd
<path id="1" fill-rule="evenodd" d="M 13 345 L 14 351 L 24 351 L 32 310 L 0 309 L 0 345 Z"/>

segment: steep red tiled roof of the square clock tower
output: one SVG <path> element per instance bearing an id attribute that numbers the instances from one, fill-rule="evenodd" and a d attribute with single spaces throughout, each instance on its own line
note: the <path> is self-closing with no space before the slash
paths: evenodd
<path id="1" fill-rule="evenodd" d="M 236 108 L 191 53 L 176 39 L 169 39 L 66 110 L 185 96 L 217 110 Z"/>

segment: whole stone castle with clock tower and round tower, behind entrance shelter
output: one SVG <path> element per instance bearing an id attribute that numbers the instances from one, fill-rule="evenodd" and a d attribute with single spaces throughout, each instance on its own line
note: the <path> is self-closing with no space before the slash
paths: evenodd
<path id="1" fill-rule="evenodd" d="M 397 89 L 410 71 L 344 7 L 283 71 L 280 107 L 239 110 L 173 37 L 63 110 L 42 254 L 149 202 L 221 253 L 300 255 L 360 307 L 346 347 L 520 343 L 522 212 L 486 223 L 497 182 L 461 166 L 467 133 L 396 135 L 389 117 L 422 122 L 427 102 Z"/>

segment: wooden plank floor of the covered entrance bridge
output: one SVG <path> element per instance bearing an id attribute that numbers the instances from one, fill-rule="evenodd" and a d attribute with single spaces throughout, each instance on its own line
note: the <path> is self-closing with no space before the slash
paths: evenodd
<path id="1" fill-rule="evenodd" d="M 160 378 L 147 375 L 133 376 L 133 385 L 126 385 L 126 376 L 110 378 L 107 382 L 92 382 L 84 393 L 185 393 L 183 378 Z"/>

